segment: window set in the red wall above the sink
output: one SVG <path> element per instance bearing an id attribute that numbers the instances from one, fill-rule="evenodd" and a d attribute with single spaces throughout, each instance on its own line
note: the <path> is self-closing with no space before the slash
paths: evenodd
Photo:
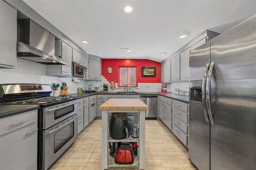
<path id="1" fill-rule="evenodd" d="M 137 87 L 137 67 L 119 67 L 119 87 L 124 87 L 130 84 L 132 87 Z"/>

